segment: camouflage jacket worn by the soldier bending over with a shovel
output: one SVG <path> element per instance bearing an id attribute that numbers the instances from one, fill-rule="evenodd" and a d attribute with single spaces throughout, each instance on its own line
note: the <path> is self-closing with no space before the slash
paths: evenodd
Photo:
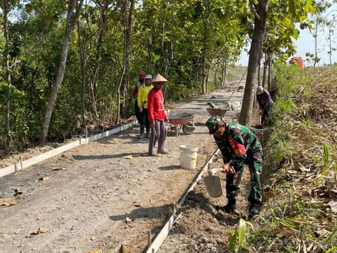
<path id="1" fill-rule="evenodd" d="M 230 163 L 238 170 L 252 154 L 261 151 L 261 145 L 256 135 L 249 128 L 239 123 L 226 123 L 223 136 L 215 142 L 222 153 L 223 162 Z"/>

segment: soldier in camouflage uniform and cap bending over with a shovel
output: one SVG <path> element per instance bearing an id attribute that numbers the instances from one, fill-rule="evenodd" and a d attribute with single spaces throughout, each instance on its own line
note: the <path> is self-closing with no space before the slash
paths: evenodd
<path id="1" fill-rule="evenodd" d="M 219 116 L 210 117 L 206 125 L 213 134 L 223 157 L 226 176 L 226 197 L 228 204 L 217 206 L 217 210 L 230 213 L 235 209 L 237 196 L 240 192 L 240 181 L 244 165 L 248 165 L 251 174 L 251 189 L 249 213 L 259 214 L 262 200 L 260 174 L 262 172 L 261 145 L 255 134 L 239 123 L 224 123 Z"/>

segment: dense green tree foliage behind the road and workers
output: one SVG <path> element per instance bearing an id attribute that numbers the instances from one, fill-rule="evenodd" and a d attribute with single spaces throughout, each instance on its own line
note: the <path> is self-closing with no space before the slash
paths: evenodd
<path id="1" fill-rule="evenodd" d="M 117 91 L 123 70 L 126 14 L 118 1 L 112 1 L 106 8 L 99 1 L 85 3 L 78 22 L 80 33 L 78 27 L 75 28 L 69 46 L 63 83 L 49 128 L 51 138 L 60 132 L 75 130 L 81 124 L 82 54 L 86 122 L 111 124 L 119 106 Z M 197 96 L 203 91 L 203 76 L 212 69 L 221 69 L 224 60 L 227 66 L 233 66 L 252 34 L 252 10 L 257 3 L 232 0 L 139 2 L 133 10 L 129 84 L 125 87 L 125 96 L 122 94 L 120 98 L 125 102 L 125 118 L 133 115 L 130 93 L 141 69 L 166 77 L 165 97 L 171 102 Z M 28 137 L 39 136 L 57 75 L 67 7 L 63 0 L 13 0 L 10 4 L 10 10 L 15 9 L 9 21 L 12 83 L 24 93 L 21 106 L 13 105 L 11 113 L 21 115 L 20 122 L 25 124 L 24 132 L 17 128 L 12 129 L 12 133 L 24 144 Z M 288 12 L 288 4 L 291 12 Z M 298 36 L 294 22 L 306 21 L 311 11 L 309 0 L 271 1 L 264 52 L 282 60 L 293 53 L 291 38 Z M 0 36 L 0 47 L 4 47 L 3 36 Z M 5 72 L 0 74 L 6 80 Z M 213 89 L 214 80 L 209 78 L 206 86 L 206 90 Z M 22 111 L 17 114 L 19 110 Z M 4 108 L 0 118 L 5 118 Z M 14 118 L 11 120 L 16 122 L 17 117 Z"/>

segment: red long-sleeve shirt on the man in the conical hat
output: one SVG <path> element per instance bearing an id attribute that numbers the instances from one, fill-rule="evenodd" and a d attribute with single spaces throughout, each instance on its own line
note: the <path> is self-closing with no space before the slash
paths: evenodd
<path id="1" fill-rule="evenodd" d="M 164 96 L 161 90 L 151 89 L 148 94 L 148 115 L 150 122 L 164 120 L 166 117 L 164 109 Z"/>

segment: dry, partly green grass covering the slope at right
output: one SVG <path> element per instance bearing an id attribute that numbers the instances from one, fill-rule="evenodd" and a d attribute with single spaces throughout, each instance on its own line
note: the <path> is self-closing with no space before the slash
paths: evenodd
<path id="1" fill-rule="evenodd" d="M 337 252 L 335 73 L 336 67 L 278 70 L 279 98 L 266 160 L 272 168 L 282 167 L 264 188 L 249 251 Z"/>

